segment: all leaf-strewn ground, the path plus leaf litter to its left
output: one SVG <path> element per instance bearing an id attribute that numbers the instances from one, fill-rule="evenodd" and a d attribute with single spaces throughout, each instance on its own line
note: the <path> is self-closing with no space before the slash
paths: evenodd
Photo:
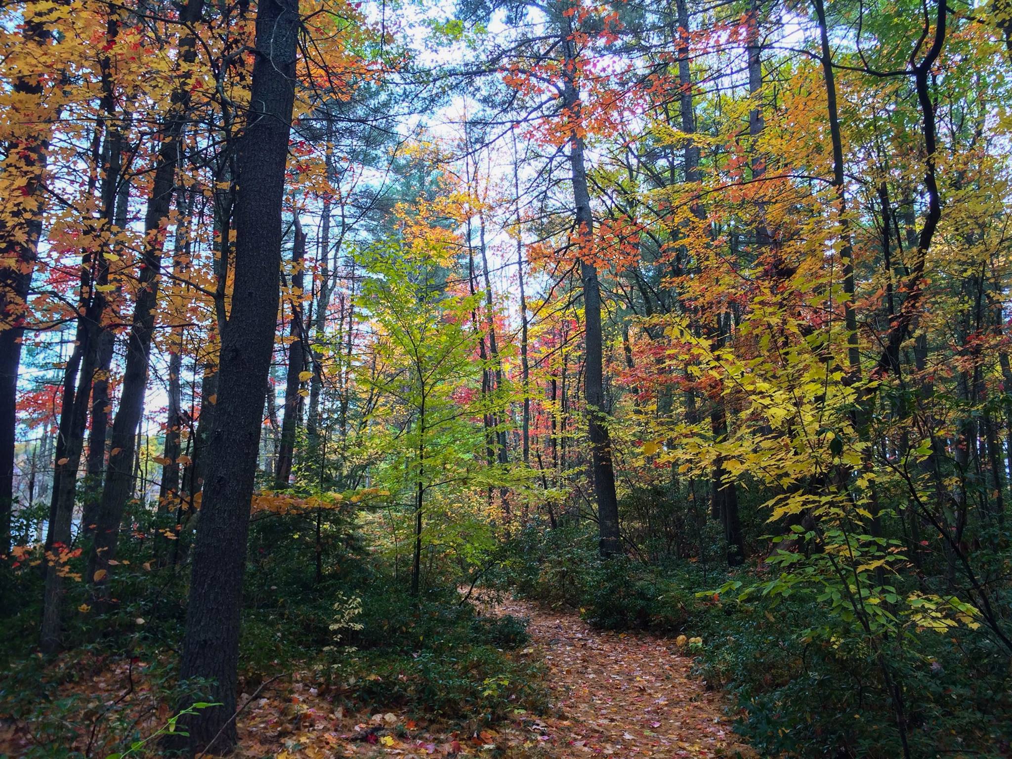
<path id="1" fill-rule="evenodd" d="M 530 641 L 517 655 L 545 664 L 544 685 L 553 703 L 549 713 L 517 710 L 493 728 L 469 729 L 467 715 L 447 726 L 413 718 L 401 709 L 352 712 L 336 707 L 335 700 L 341 700 L 336 698 L 338 694 L 318 686 L 313 673 L 293 672 L 240 696 L 244 708 L 239 715 L 239 746 L 233 756 L 756 757 L 754 751 L 738 743 L 723 714 L 721 694 L 706 690 L 693 677 L 691 658 L 683 656 L 674 641 L 596 630 L 575 614 L 522 601 L 479 601 L 478 605 L 484 613 L 508 613 L 530 620 Z M 115 705 L 135 714 L 135 725 L 150 734 L 164 725 L 170 715 L 168 706 L 146 700 L 144 663 L 129 673 L 126 667 L 125 663 L 103 667 L 81 678 L 74 687 L 100 694 L 110 709 Z M 129 690 L 123 687 L 128 682 Z M 0 755 L 22 755 L 33 743 L 30 733 L 29 725 L 0 720 Z M 103 736 L 104 740 L 92 746 L 95 731 L 89 730 L 87 722 L 78 733 L 80 740 L 66 748 L 76 748 L 81 755 L 104 756 L 99 747 L 106 751 L 116 748 L 114 735 Z"/>

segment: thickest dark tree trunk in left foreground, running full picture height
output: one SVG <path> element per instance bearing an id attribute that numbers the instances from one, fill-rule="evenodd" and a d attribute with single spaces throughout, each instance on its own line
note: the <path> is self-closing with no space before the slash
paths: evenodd
<path id="1" fill-rule="evenodd" d="M 227 753 L 237 740 L 233 714 L 243 569 L 263 389 L 277 325 L 281 200 L 300 26 L 298 0 L 262 0 L 257 7 L 258 55 L 239 146 L 232 311 L 222 332 L 218 404 L 193 546 L 181 672 L 184 679 L 210 681 L 209 700 L 222 705 L 186 720 L 193 752 Z"/>

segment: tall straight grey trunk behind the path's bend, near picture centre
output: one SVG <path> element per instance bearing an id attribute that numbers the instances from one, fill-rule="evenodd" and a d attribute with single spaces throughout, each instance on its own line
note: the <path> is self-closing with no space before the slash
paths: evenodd
<path id="1" fill-rule="evenodd" d="M 567 129 L 570 130 L 570 168 L 573 173 L 573 199 L 576 204 L 576 234 L 581 247 L 589 244 L 594 234 L 594 218 L 590 212 L 590 189 L 583 157 L 583 138 L 578 125 L 582 118 L 580 93 L 574 81 L 576 51 L 573 29 L 563 39 L 566 57 L 566 82 L 563 107 Z M 597 497 L 598 533 L 602 557 L 621 551 L 618 532 L 618 499 L 615 496 L 615 473 L 611 465 L 611 437 L 604 423 L 604 347 L 601 334 L 601 287 L 597 269 L 586 258 L 580 262 L 583 281 L 585 400 L 590 428 L 590 446 L 594 474 L 594 494 Z"/>

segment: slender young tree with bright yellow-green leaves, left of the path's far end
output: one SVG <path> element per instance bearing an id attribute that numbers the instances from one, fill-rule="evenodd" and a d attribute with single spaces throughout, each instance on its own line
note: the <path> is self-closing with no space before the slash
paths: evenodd
<path id="1" fill-rule="evenodd" d="M 487 396 L 474 397 L 484 368 L 471 325 L 480 297 L 446 290 L 448 263 L 445 248 L 426 239 L 410 247 L 380 243 L 363 259 L 368 276 L 359 308 L 375 325 L 371 363 L 384 367 L 378 376 L 363 376 L 385 399 L 373 418 L 386 424 L 374 434 L 384 447 L 402 451 L 382 479 L 412 502 L 413 596 L 421 589 L 425 516 L 436 491 L 497 480 L 475 466 L 483 435 L 472 420 L 494 410 Z"/>

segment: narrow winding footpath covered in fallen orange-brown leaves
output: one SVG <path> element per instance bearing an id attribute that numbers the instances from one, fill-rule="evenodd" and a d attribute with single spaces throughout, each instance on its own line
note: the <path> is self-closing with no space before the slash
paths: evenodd
<path id="1" fill-rule="evenodd" d="M 530 620 L 557 707 L 535 725 L 558 757 L 755 757 L 674 641 L 598 630 L 572 613 L 507 600 L 488 611 Z"/>

